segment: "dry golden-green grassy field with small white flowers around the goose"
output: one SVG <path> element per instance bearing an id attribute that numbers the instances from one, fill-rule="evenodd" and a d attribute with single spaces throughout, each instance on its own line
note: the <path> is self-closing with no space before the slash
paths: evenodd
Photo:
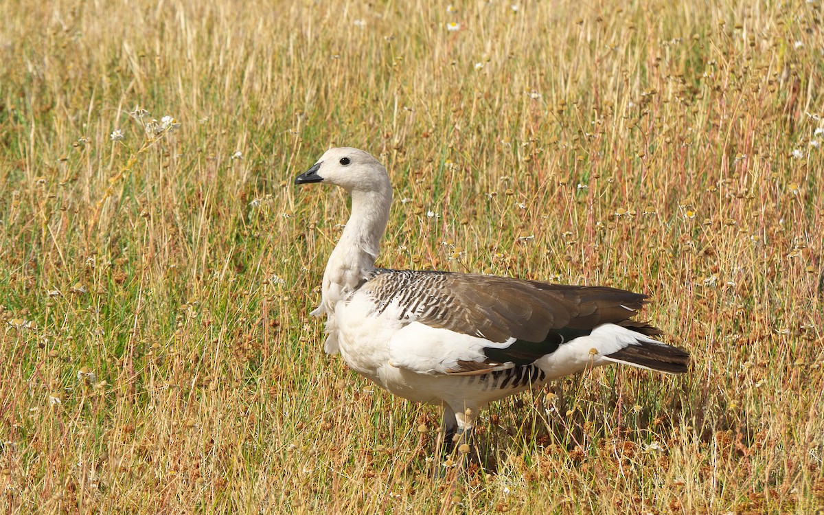
<path id="1" fill-rule="evenodd" d="M 824 509 L 821 2 L 0 16 L 0 513 Z M 334 145 L 396 186 L 379 265 L 651 293 L 691 372 L 504 400 L 433 480 L 437 410 L 307 315 Z"/>

